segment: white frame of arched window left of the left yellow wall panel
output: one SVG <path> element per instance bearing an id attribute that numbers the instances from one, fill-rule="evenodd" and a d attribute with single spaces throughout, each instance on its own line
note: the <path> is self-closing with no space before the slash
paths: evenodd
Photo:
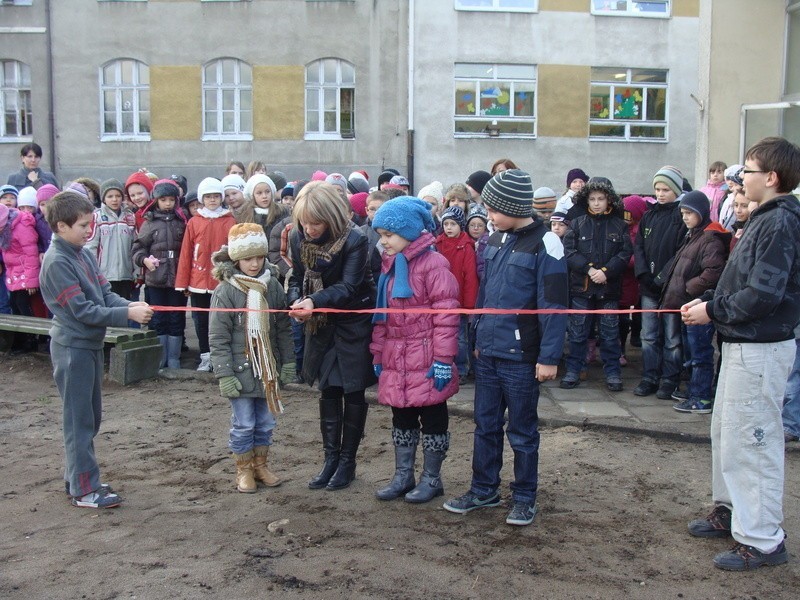
<path id="1" fill-rule="evenodd" d="M 132 62 L 134 68 L 132 69 L 133 81 L 130 83 L 122 82 L 122 68 L 125 62 Z M 105 70 L 114 67 L 114 81 L 108 82 L 104 79 Z M 142 83 L 139 77 L 139 69 L 144 67 L 147 69 L 147 83 Z M 149 142 L 150 131 L 142 131 L 142 124 L 140 121 L 140 113 L 143 96 L 147 97 L 147 126 L 150 128 L 150 67 L 135 58 L 115 58 L 101 65 L 98 75 L 100 82 L 100 141 L 101 142 Z M 106 118 L 106 92 L 114 92 L 114 113 L 116 115 L 116 132 L 106 132 L 105 118 Z M 129 112 L 133 113 L 133 131 L 122 131 L 122 95 L 124 92 L 133 92 L 133 106 Z"/>

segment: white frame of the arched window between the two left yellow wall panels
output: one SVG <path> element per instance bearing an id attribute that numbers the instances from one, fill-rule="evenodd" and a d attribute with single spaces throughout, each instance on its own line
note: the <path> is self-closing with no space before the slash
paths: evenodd
<path id="1" fill-rule="evenodd" d="M 222 82 L 222 68 L 224 65 L 224 61 L 234 61 L 235 69 L 233 72 L 234 75 L 234 82 L 233 83 L 221 83 Z M 208 67 L 215 65 L 216 67 L 216 81 L 208 82 L 206 81 L 206 70 Z M 250 83 L 242 83 L 242 68 L 247 68 L 250 72 Z M 242 142 L 249 142 L 253 139 L 253 67 L 240 60 L 238 58 L 234 58 L 231 56 L 224 56 L 220 58 L 215 58 L 213 60 L 208 61 L 203 65 L 203 112 L 202 112 L 202 119 L 203 119 L 203 141 L 242 141 Z M 234 118 L 234 131 L 225 133 L 221 132 L 221 124 L 224 117 L 224 110 L 223 110 L 223 93 L 227 91 L 233 91 L 233 118 Z M 211 111 L 206 108 L 206 95 L 207 92 L 216 92 L 216 108 Z M 246 111 L 242 109 L 242 95 L 249 94 L 250 96 L 250 110 Z M 206 112 L 215 112 L 217 117 L 217 131 L 207 131 L 206 130 Z M 250 130 L 243 129 L 242 126 L 242 115 L 245 112 L 250 113 Z"/>

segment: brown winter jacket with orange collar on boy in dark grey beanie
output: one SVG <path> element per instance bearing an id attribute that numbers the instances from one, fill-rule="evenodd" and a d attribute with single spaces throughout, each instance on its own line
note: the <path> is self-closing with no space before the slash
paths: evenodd
<path id="1" fill-rule="evenodd" d="M 717 222 L 690 229 L 678 249 L 661 295 L 661 308 L 680 308 L 712 290 L 719 281 L 731 234 Z"/>

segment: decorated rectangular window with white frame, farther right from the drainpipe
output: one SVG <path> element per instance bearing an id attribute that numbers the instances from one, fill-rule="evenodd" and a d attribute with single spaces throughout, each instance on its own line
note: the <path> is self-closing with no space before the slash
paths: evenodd
<path id="1" fill-rule="evenodd" d="M 666 141 L 667 71 L 593 67 L 589 137 Z"/>

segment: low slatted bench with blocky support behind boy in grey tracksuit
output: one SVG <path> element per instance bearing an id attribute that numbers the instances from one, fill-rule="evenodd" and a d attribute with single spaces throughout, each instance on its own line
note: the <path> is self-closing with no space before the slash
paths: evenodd
<path id="1" fill-rule="evenodd" d="M 40 317 L 0 315 L 0 331 L 49 335 L 51 325 L 50 319 Z M 112 345 L 108 366 L 112 381 L 128 385 L 158 375 L 162 350 L 155 331 L 108 327 L 104 342 Z"/>

